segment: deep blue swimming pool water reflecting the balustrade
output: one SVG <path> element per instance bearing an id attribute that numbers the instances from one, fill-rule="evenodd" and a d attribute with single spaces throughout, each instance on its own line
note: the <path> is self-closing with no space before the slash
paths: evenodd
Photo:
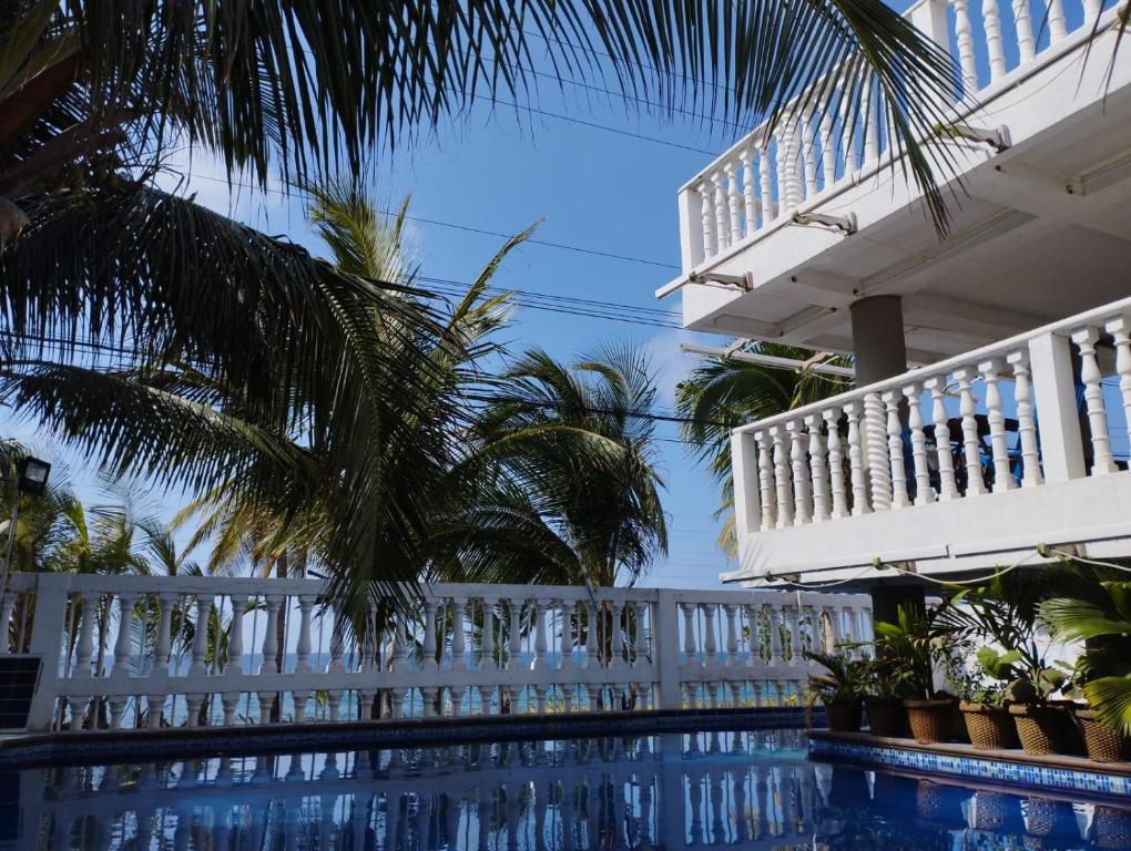
<path id="1" fill-rule="evenodd" d="M 1131 849 L 1125 807 L 698 732 L 9 772 L 0 850 Z"/>

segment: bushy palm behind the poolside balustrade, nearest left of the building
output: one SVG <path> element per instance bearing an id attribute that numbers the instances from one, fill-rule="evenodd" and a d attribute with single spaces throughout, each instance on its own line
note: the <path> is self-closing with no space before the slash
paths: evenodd
<path id="1" fill-rule="evenodd" d="M 474 582 L 632 584 L 667 552 L 655 397 L 631 348 L 571 366 L 527 351 L 484 397 L 473 493 L 437 523 L 435 568 Z"/>

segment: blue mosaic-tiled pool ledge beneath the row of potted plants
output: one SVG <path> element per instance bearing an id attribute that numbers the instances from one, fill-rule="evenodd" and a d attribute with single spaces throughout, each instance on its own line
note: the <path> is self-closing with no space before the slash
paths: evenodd
<path id="1" fill-rule="evenodd" d="M 978 750 L 972 745 L 920 745 L 866 732 L 806 730 L 817 758 L 979 779 L 1011 787 L 1131 797 L 1131 763 L 1094 763 L 1082 756 L 1029 756 L 1020 749 Z"/>

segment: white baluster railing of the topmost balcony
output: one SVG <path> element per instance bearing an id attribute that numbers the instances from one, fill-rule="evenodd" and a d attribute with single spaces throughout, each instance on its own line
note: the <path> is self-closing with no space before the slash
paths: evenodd
<path id="1" fill-rule="evenodd" d="M 904 17 L 951 53 L 956 105 L 969 107 L 1070 35 L 1090 33 L 1097 17 L 1114 16 L 1113 7 L 1111 0 L 918 0 Z M 772 127 L 759 125 L 681 188 L 684 271 L 749 243 L 891 155 L 883 93 L 865 93 L 858 111 L 846 114 L 852 98 L 836 94 L 845 85 L 834 84 L 828 112 L 798 96 Z"/>

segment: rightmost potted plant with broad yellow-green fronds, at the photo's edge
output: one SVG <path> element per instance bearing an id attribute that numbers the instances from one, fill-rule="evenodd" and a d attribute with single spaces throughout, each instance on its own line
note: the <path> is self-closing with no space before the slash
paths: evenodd
<path id="1" fill-rule="evenodd" d="M 1116 574 L 1071 566 L 1068 593 L 1041 603 L 1041 619 L 1063 641 L 1085 642 L 1071 669 L 1076 711 L 1088 757 L 1122 762 L 1131 755 L 1131 582 Z"/>

